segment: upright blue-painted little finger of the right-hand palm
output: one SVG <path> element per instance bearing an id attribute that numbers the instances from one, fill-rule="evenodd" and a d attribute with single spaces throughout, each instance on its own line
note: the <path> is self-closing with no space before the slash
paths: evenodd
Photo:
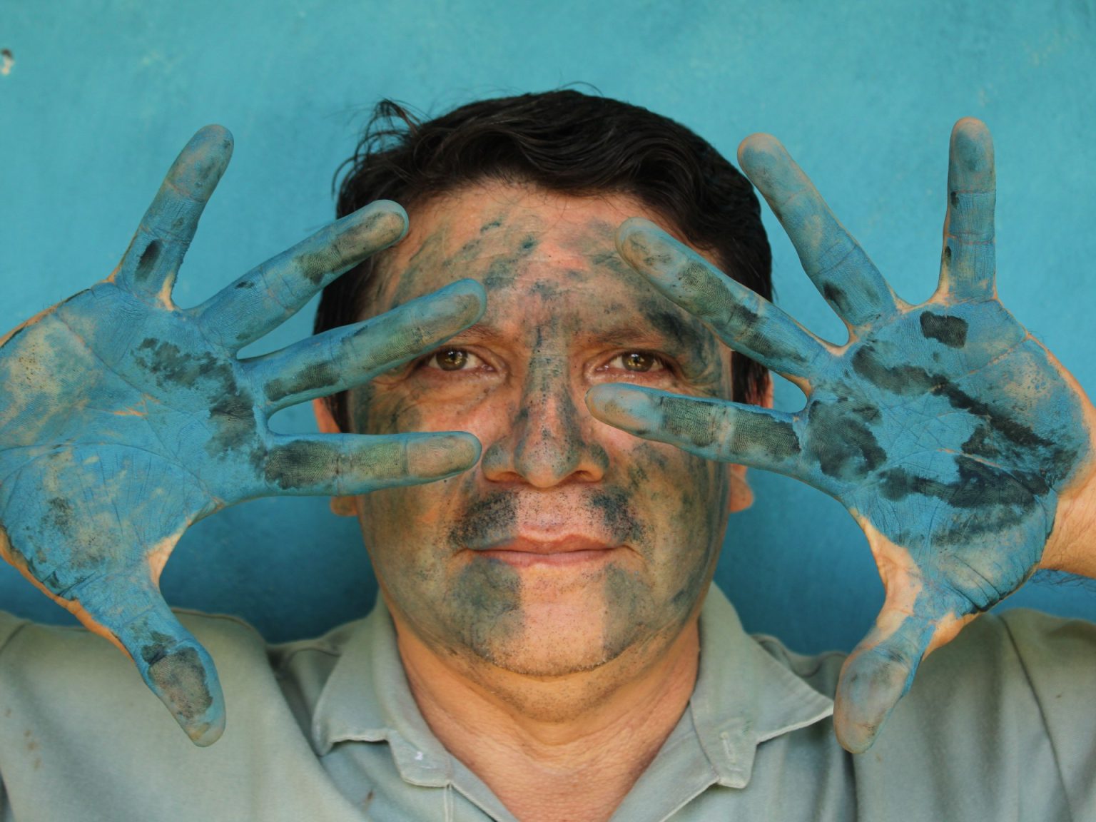
<path id="1" fill-rule="evenodd" d="M 951 129 L 938 289 L 948 300 L 992 299 L 996 295 L 996 187 L 990 129 L 973 117 L 960 119 Z"/>

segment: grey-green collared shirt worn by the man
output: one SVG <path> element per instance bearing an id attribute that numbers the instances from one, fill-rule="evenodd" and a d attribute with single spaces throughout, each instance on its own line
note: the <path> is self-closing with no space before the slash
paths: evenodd
<path id="1" fill-rule="evenodd" d="M 228 728 L 194 747 L 117 651 L 0 615 L 0 819 L 513 820 L 431 733 L 383 605 L 266 646 L 182 615 Z M 843 654 L 749 637 L 712 587 L 688 708 L 614 820 L 1096 820 L 1096 626 L 986 616 L 934 653 L 876 745 L 844 752 Z"/>

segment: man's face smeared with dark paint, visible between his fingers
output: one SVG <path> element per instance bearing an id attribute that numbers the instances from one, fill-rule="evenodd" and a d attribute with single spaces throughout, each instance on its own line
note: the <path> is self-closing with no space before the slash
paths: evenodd
<path id="1" fill-rule="evenodd" d="M 727 524 L 731 469 L 591 416 L 631 383 L 729 398 L 730 354 L 617 255 L 624 196 L 492 183 L 411 215 L 370 316 L 471 277 L 487 312 L 433 355 L 352 392 L 354 430 L 468 431 L 479 465 L 357 500 L 401 630 L 443 657 L 532 675 L 657 657 L 695 615 Z"/>

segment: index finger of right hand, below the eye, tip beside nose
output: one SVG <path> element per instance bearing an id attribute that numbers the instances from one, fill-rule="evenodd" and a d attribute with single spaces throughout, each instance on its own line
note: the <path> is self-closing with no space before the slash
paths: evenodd
<path id="1" fill-rule="evenodd" d="M 623 384 L 591 388 L 586 406 L 608 425 L 705 459 L 799 472 L 799 436 L 790 414 Z"/>

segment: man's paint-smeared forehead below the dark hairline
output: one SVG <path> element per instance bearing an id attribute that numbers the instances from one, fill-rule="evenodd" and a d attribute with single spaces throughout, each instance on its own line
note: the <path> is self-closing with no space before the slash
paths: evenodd
<path id="1" fill-rule="evenodd" d="M 729 367 L 715 335 L 617 253 L 617 227 L 658 220 L 650 209 L 625 196 L 500 187 L 410 209 L 411 230 L 384 252 L 366 316 L 470 277 L 488 293 L 487 311 L 458 343 L 647 349 L 696 383 Z"/>

